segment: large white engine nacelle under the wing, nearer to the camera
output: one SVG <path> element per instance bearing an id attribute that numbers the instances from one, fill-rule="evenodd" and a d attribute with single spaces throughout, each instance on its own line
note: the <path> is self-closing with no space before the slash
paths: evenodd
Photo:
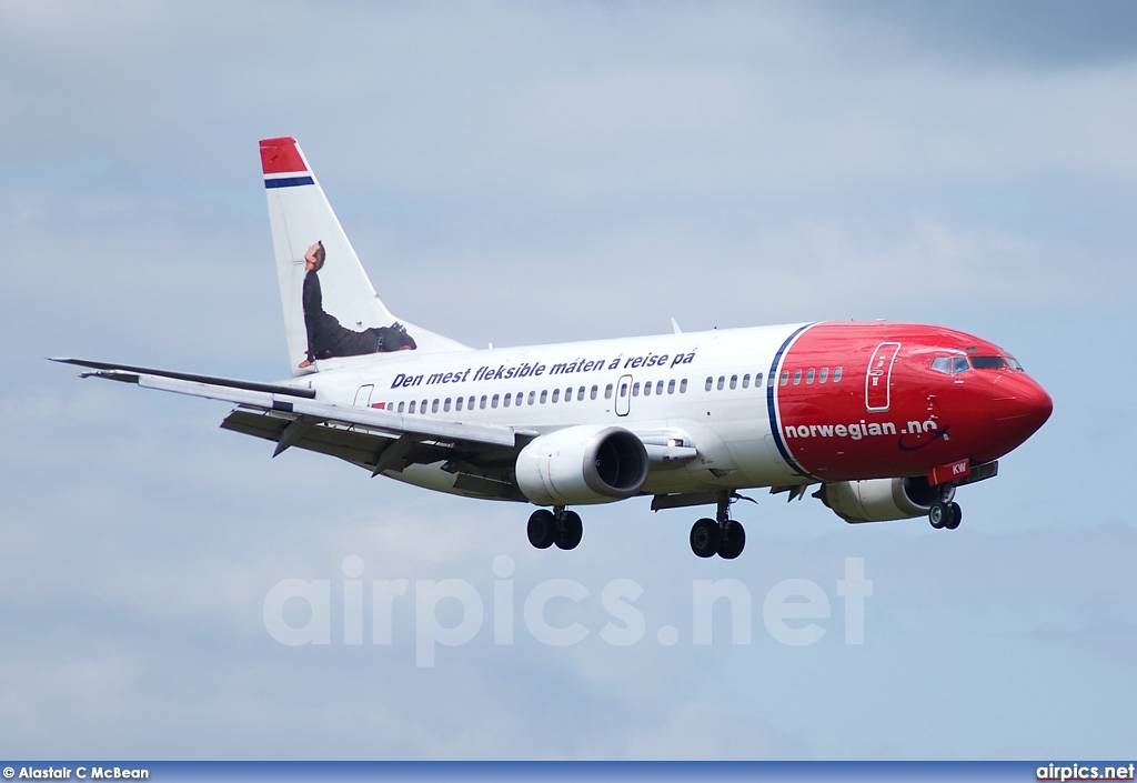
<path id="1" fill-rule="evenodd" d="M 647 450 L 620 427 L 567 427 L 536 438 L 517 455 L 517 486 L 538 505 L 611 503 L 647 480 Z"/>

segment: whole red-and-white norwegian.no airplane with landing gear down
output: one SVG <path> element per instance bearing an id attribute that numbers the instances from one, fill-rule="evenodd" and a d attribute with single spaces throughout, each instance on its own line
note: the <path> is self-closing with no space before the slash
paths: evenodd
<path id="1" fill-rule="evenodd" d="M 715 506 L 700 558 L 746 544 L 742 491 L 819 498 L 847 522 L 927 516 L 1049 418 L 988 340 L 918 323 L 808 322 L 474 349 L 384 305 L 293 138 L 260 141 L 292 377 L 256 382 L 77 358 L 82 377 L 225 401 L 224 429 L 400 481 L 538 506 L 538 549 L 578 546 L 571 510 L 650 496 Z M 435 283 L 437 285 L 437 281 Z M 750 500 L 750 498 L 746 498 Z"/>

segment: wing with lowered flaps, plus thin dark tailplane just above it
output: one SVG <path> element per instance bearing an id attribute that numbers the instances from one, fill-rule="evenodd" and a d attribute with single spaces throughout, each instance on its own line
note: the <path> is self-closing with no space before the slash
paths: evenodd
<path id="1" fill-rule="evenodd" d="M 273 440 L 280 454 L 290 446 L 338 456 L 372 471 L 401 471 L 410 464 L 446 462 L 455 486 L 472 493 L 513 498 L 509 472 L 517 452 L 538 434 L 492 425 L 438 421 L 392 411 L 333 405 L 315 399 L 314 389 L 259 384 L 81 358 L 53 362 L 89 368 L 83 377 L 135 384 L 235 403 L 222 428 Z"/>

